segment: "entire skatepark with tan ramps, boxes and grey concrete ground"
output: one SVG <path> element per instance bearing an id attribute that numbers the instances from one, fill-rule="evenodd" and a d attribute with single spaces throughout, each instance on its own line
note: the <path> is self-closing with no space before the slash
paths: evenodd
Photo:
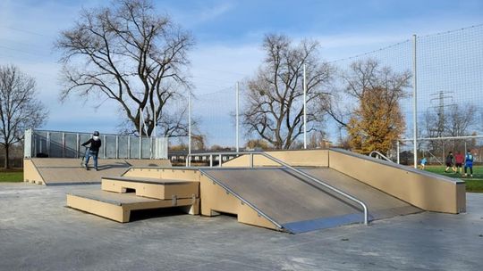
<path id="1" fill-rule="evenodd" d="M 340 149 L 221 155 L 27 158 L 0 186 L 0 269 L 479 270 L 462 180 Z"/>

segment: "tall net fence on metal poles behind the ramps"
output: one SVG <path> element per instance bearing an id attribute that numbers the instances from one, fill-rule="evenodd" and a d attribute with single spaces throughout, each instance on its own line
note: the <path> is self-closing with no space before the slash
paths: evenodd
<path id="1" fill-rule="evenodd" d="M 471 149 L 476 160 L 480 160 L 483 139 L 483 25 L 445 33 L 416 37 L 375 48 L 329 62 L 335 68 L 332 91 L 343 95 L 347 87 L 343 75 L 348 74 L 355 62 L 377 62 L 379 67 L 388 68 L 394 74 L 408 73 L 407 86 L 403 86 L 404 97 L 400 109 L 405 123 L 405 132 L 399 144 L 394 142 L 393 151 L 388 153 L 396 160 L 399 153 L 402 163 L 413 163 L 412 136 L 414 128 L 413 82 L 416 75 L 418 126 L 418 156 L 425 156 L 430 162 L 443 160 L 445 153 Z M 414 74 L 413 64 L 416 64 Z M 246 86 L 240 87 L 240 106 L 247 93 Z M 300 101 L 301 102 L 301 101 Z M 351 97 L 339 97 L 336 101 L 342 109 L 342 118 L 351 118 L 352 109 L 357 106 Z M 301 103 L 295 103 L 297 106 Z M 193 135 L 202 137 L 202 143 L 192 139 L 194 149 L 234 149 L 236 144 L 235 109 L 236 87 L 221 89 L 209 94 L 195 94 L 192 100 L 192 119 L 195 123 Z M 242 117 L 240 119 L 242 124 Z M 326 137 L 334 144 L 340 144 L 347 134 L 334 119 L 326 118 Z M 253 135 L 245 134 L 240 125 L 240 146 L 244 146 Z M 310 137 L 309 135 L 308 137 Z M 475 136 L 473 138 L 462 136 Z M 448 137 L 447 140 L 441 138 Z M 434 139 L 437 138 L 437 139 Z M 186 138 L 178 139 L 187 143 Z M 303 140 L 303 136 L 297 138 Z M 195 146 L 198 144 L 198 146 Z M 397 145 L 397 146 L 396 146 Z"/>

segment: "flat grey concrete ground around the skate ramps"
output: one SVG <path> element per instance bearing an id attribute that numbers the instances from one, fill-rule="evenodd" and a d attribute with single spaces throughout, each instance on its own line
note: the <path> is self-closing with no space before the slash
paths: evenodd
<path id="1" fill-rule="evenodd" d="M 483 270 L 483 194 L 467 214 L 293 235 L 225 216 L 119 224 L 66 208 L 78 188 L 0 184 L 0 270 Z"/>

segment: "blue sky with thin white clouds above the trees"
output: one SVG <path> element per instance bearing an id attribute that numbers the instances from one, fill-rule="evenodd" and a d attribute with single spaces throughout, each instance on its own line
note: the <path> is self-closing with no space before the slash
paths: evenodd
<path id="1" fill-rule="evenodd" d="M 483 1 L 155 1 L 191 31 L 195 94 L 233 87 L 252 75 L 263 59 L 266 33 L 294 40 L 317 39 L 326 60 L 349 57 L 411 38 L 483 22 Z M 58 102 L 58 53 L 53 43 L 72 26 L 80 8 L 109 1 L 0 2 L 0 64 L 13 63 L 38 81 L 40 99 L 50 109 L 46 129 L 114 133 L 120 119 L 114 103 L 95 110 L 72 98 Z M 92 116 L 96 118 L 92 118 Z"/>

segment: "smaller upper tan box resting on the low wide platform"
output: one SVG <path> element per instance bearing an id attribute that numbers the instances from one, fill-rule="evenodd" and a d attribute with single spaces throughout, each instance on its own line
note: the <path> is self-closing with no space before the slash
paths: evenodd
<path id="1" fill-rule="evenodd" d="M 199 198 L 199 182 L 152 177 L 103 177 L 101 189 L 114 193 L 134 192 L 157 200 Z"/>

